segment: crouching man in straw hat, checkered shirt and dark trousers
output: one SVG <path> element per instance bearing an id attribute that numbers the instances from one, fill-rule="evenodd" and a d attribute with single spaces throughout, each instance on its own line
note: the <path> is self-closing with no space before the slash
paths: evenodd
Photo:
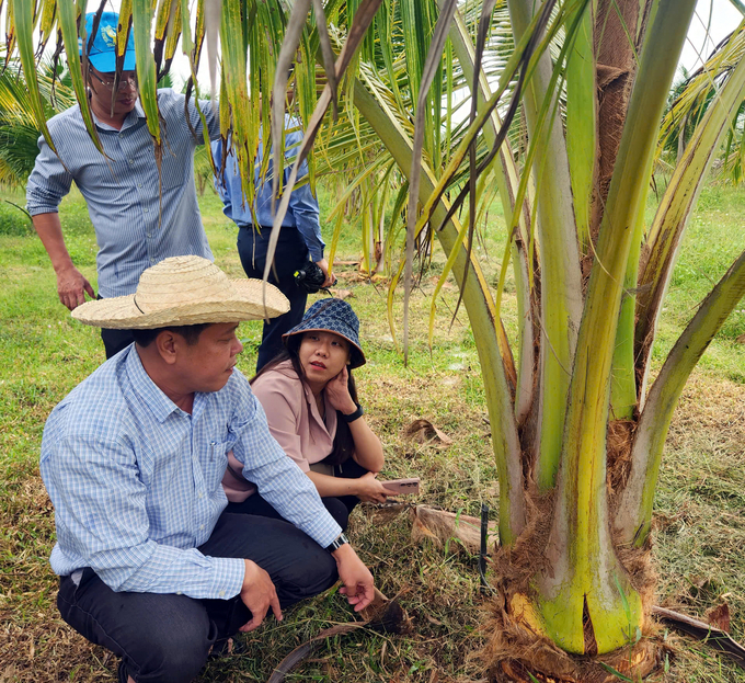
<path id="1" fill-rule="evenodd" d="M 135 343 L 51 412 L 42 477 L 55 506 L 62 618 L 122 657 L 121 681 L 190 681 L 213 646 L 341 579 L 356 611 L 373 577 L 312 482 L 270 435 L 236 369 L 240 320 L 288 308 L 271 285 L 199 257 L 145 271 L 137 292 L 88 301 L 85 325 Z M 291 524 L 224 512 L 232 452 Z"/>

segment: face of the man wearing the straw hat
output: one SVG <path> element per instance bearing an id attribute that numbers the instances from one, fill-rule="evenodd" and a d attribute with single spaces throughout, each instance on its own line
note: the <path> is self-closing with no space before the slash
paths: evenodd
<path id="1" fill-rule="evenodd" d="M 172 369 L 187 391 L 219 391 L 230 379 L 243 344 L 238 341 L 238 322 L 216 322 L 205 328 L 196 344 L 180 337 Z"/>

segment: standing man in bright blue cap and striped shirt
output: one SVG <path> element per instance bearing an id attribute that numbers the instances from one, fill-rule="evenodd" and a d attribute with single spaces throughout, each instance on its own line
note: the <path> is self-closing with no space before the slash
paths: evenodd
<path id="1" fill-rule="evenodd" d="M 88 36 L 93 16 L 87 15 Z M 72 262 L 59 221 L 58 206 L 72 181 L 88 203 L 95 229 L 99 296 L 134 293 L 142 271 L 168 257 L 213 258 L 194 187 L 194 151 L 203 139 L 196 105 L 192 101 L 187 110 L 196 130 L 194 137 L 184 115 L 184 95 L 170 89 L 158 91 L 168 139 L 159 179 L 138 99 L 131 34 L 112 113 L 117 23 L 118 14 L 104 12 L 89 52 L 89 102 L 106 157 L 93 145 L 80 106 L 71 106 L 48 122 L 59 157 L 41 137 L 39 155 L 26 187 L 28 213 L 57 274 L 59 300 L 70 310 L 85 300 L 85 294 L 94 296 L 93 287 Z M 215 139 L 219 137 L 218 116 L 211 104 L 203 104 L 209 137 Z M 133 341 L 128 330 L 104 329 L 101 337 L 106 357 Z"/>

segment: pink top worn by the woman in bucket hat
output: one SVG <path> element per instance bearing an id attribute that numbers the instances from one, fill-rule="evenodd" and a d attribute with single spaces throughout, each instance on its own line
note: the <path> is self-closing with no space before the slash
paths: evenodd
<path id="1" fill-rule="evenodd" d="M 333 451 L 336 410 L 324 392 L 325 421 L 321 418 L 312 391 L 302 384 L 289 361 L 261 375 L 251 389 L 266 412 L 270 432 L 302 471 L 309 471 L 311 465 Z M 256 490 L 253 483 L 233 474 L 241 469 L 241 464 L 230 454 L 222 488 L 233 503 L 243 502 Z"/>

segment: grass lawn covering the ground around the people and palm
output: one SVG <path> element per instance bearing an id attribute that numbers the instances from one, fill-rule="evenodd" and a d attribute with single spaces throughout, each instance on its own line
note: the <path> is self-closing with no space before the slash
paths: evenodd
<path id="1" fill-rule="evenodd" d="M 0 193 L 23 204 L 14 193 Z M 217 197 L 202 200 L 216 262 L 234 276 L 242 270 L 236 228 Z M 650 212 L 653 212 L 650 204 Z M 330 210 L 322 201 L 322 214 Z M 81 197 L 61 209 L 68 248 L 76 264 L 95 282 L 95 240 Z M 707 189 L 692 218 L 661 325 L 655 362 L 695 312 L 698 301 L 745 247 L 745 193 Z M 501 259 L 503 224 L 491 213 L 483 254 L 492 280 Z M 349 229 L 337 261 L 356 261 L 358 238 Z M 331 236 L 326 236 L 330 241 Z M 413 299 L 410 365 L 403 366 L 387 320 L 385 282 L 360 278 L 355 265 L 339 265 L 340 289 L 359 315 L 369 362 L 357 371 L 360 398 L 386 449 L 385 475 L 420 476 L 416 502 L 478 514 L 481 503 L 496 508 L 498 483 L 481 368 L 465 311 L 451 322 L 457 288 L 446 285 L 437 304 L 435 343 L 427 345 L 431 294 L 442 273 L 436 254 Z M 44 422 L 51 408 L 103 361 L 98 330 L 74 322 L 57 299 L 46 253 L 21 213 L 0 203 L 0 682 L 115 680 L 116 662 L 84 641 L 59 618 L 57 579 L 48 556 L 54 545 L 54 512 L 38 476 Z M 310 301 L 316 297 L 310 297 Z M 402 295 L 393 307 L 401 325 Z M 515 333 L 515 303 L 507 283 L 503 316 Z M 722 602 L 732 614 L 732 634 L 745 639 L 745 300 L 711 344 L 686 388 L 668 437 L 656 499 L 655 561 L 658 604 L 703 617 Z M 399 331 L 400 334 L 400 331 Z M 243 323 L 245 350 L 239 367 L 251 375 L 261 323 Z M 405 428 L 425 418 L 450 445 L 404 437 Z M 358 630 L 321 645 L 290 681 L 467 681 L 484 680 L 478 654 L 480 624 L 488 601 L 479 592 L 475 557 L 457 544 L 438 548 L 413 543 L 404 511 L 383 516 L 362 505 L 351 536 L 362 558 L 389 595 L 400 594 L 414 631 L 389 637 Z M 331 592 L 270 619 L 241 636 L 247 652 L 210 664 L 200 681 L 265 681 L 293 648 L 321 629 L 353 619 L 342 596 Z M 745 681 L 745 672 L 708 646 L 668 634 L 675 656 L 655 681 L 724 683 Z"/>

